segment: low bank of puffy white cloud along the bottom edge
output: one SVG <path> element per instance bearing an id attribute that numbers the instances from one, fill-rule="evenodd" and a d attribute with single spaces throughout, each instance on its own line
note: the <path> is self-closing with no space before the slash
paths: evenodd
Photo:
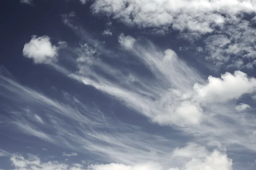
<path id="1" fill-rule="evenodd" d="M 186 153 L 188 152 L 188 153 Z M 28 158 L 22 155 L 12 155 L 10 157 L 14 170 L 232 170 L 232 159 L 229 159 L 225 153 L 218 150 L 209 152 L 197 144 L 188 144 L 183 148 L 176 148 L 170 155 L 169 161 L 178 161 L 181 166 L 166 167 L 156 161 L 147 161 L 136 164 L 82 164 L 73 163 L 68 165 L 59 161 L 42 162 L 38 156 L 29 154 Z M 177 166 L 179 166 L 177 164 Z"/>

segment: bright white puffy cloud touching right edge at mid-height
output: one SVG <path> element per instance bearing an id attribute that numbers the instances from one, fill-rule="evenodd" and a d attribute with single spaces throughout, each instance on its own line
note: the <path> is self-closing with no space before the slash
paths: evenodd
<path id="1" fill-rule="evenodd" d="M 239 99 L 244 94 L 256 91 L 256 79 L 242 71 L 225 73 L 218 77 L 208 77 L 206 85 L 194 85 L 198 98 L 205 102 L 224 102 Z"/>

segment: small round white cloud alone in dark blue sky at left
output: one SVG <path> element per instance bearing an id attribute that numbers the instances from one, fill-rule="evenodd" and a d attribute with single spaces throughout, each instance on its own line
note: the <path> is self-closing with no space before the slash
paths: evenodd
<path id="1" fill-rule="evenodd" d="M 52 45 L 50 37 L 32 36 L 32 39 L 24 45 L 23 56 L 31 58 L 35 63 L 49 63 L 56 60 L 58 48 Z"/>

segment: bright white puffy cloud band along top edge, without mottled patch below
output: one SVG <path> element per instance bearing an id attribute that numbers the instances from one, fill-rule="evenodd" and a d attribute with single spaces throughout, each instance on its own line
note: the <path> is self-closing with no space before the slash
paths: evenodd
<path id="1" fill-rule="evenodd" d="M 172 26 L 207 33 L 214 26 L 223 26 L 227 16 L 252 12 L 256 4 L 251 0 L 95 0 L 91 6 L 95 13 L 113 14 L 113 18 L 127 25 L 139 27 Z"/>

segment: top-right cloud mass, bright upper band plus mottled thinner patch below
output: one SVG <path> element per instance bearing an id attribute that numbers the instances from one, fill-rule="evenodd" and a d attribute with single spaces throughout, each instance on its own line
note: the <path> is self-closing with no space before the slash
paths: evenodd
<path id="1" fill-rule="evenodd" d="M 147 28 L 154 34 L 177 30 L 178 37 L 191 41 L 184 48 L 200 48 L 200 56 L 213 62 L 215 70 L 256 64 L 253 0 L 94 0 L 90 8 L 94 14 Z"/>

